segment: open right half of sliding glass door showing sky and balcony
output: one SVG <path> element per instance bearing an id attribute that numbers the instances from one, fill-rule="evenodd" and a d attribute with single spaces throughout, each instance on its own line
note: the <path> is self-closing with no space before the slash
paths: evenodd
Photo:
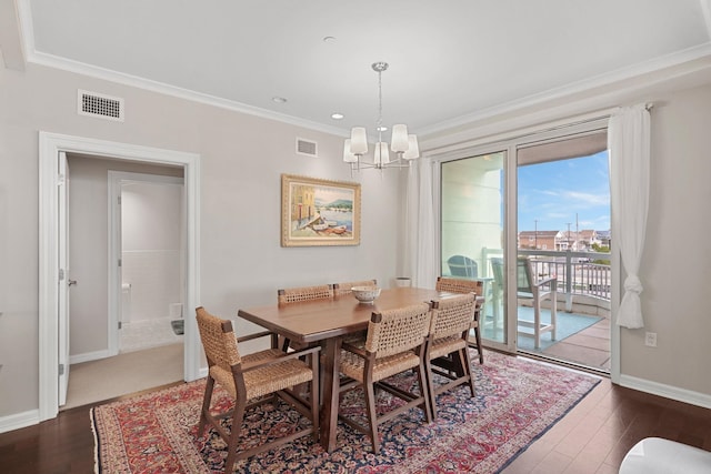
<path id="1" fill-rule="evenodd" d="M 569 139 L 575 140 L 575 139 Z M 604 147 L 604 134 L 598 140 Z M 567 143 L 559 143 L 564 147 Z M 519 352 L 610 373 L 610 173 L 608 151 L 541 155 L 518 167 L 517 254 L 540 301 L 517 284 L 518 320 L 552 325 L 539 340 L 521 329 Z M 519 271 L 519 274 L 525 273 Z M 551 292 L 551 285 L 555 290 Z M 535 285 L 534 285 L 535 284 Z M 523 296 L 522 296 L 523 295 Z M 555 297 L 557 305 L 551 303 Z M 551 310 L 557 309 L 555 317 Z"/>

